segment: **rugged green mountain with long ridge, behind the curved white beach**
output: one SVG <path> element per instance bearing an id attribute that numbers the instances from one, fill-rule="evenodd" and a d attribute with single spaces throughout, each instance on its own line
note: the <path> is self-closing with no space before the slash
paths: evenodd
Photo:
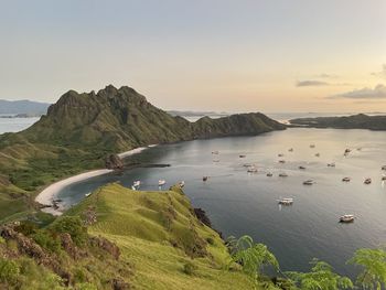
<path id="1" fill-rule="evenodd" d="M 105 158 L 151 143 L 258 135 L 285 127 L 262 114 L 189 122 L 152 106 L 130 87 L 69 90 L 29 129 L 0 136 L 0 223 L 33 208 L 47 184 L 103 168 Z"/>

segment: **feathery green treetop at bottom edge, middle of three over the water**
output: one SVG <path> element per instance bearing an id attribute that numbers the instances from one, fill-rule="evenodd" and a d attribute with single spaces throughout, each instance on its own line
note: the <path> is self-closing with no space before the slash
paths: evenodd
<path id="1" fill-rule="evenodd" d="M 313 259 L 311 264 L 313 267 L 310 272 L 287 272 L 301 290 L 341 290 L 354 287 L 347 277 L 334 273 L 329 264 L 318 259 Z"/>

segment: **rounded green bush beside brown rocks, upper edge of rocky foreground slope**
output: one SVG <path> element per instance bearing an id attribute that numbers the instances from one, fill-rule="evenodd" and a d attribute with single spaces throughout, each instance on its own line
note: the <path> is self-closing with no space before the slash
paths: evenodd
<path id="1" fill-rule="evenodd" d="M 58 234 L 69 234 L 77 246 L 83 246 L 87 241 L 87 227 L 83 226 L 78 216 L 64 216 L 53 224 L 52 229 Z"/>

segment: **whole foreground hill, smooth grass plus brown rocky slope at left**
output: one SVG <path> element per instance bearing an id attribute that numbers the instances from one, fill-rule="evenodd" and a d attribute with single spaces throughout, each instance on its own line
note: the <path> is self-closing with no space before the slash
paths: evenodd
<path id="1" fill-rule="evenodd" d="M 76 216 L 87 225 L 88 240 L 98 237 L 99 243 L 85 241 L 83 232 L 71 226 L 72 219 L 72 223 L 63 223 Z M 256 289 L 239 267 L 234 265 L 229 270 L 230 257 L 223 240 L 197 219 L 190 201 L 179 189 L 140 192 L 119 184 L 103 186 L 41 230 L 62 238 L 66 234 L 57 234 L 57 230 L 62 233 L 63 229 L 72 233 L 74 245 L 71 247 L 64 246 L 68 243 L 63 243 L 63 239 L 62 248 L 53 247 L 46 239 L 41 241 L 42 235 L 30 234 L 30 238 L 41 245 L 39 253 L 47 253 L 44 262 L 40 258 L 43 254 L 31 255 L 30 248 L 36 253 L 39 246 L 29 246 L 28 250 L 23 246 L 10 255 L 12 248 L 18 248 L 18 243 L 31 243 L 28 237 L 22 236 L 20 243 L 19 236 L 10 238 L 2 232 L 7 243 L 0 243 L 0 267 L 2 257 L 14 261 L 19 273 L 13 277 L 13 286 L 49 289 L 44 283 L 50 277 L 55 277 L 56 287 L 67 284 L 74 289 Z M 21 232 L 29 230 L 24 227 Z M 54 254 L 50 254 L 53 249 Z M 29 271 L 25 270 L 25 260 L 30 264 Z M 40 273 L 40 280 L 29 273 L 31 269 Z M 7 282 L 1 284 L 1 279 L 0 275 L 0 288 L 7 286 Z M 127 288 L 115 288 L 114 281 Z M 28 288 L 29 283 L 34 284 L 33 288 Z"/>

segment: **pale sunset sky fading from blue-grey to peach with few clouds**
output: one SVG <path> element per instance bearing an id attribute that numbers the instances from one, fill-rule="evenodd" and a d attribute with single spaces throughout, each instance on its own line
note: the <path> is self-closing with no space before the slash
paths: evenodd
<path id="1" fill-rule="evenodd" d="M 163 109 L 386 111 L 385 0 L 0 0 L 0 98 L 133 87 Z"/>

